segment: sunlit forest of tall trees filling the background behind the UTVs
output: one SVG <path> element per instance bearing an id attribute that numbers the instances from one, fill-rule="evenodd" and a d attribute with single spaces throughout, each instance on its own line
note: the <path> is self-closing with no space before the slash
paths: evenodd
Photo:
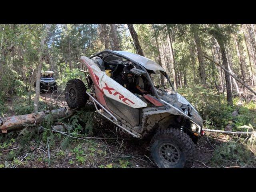
<path id="1" fill-rule="evenodd" d="M 46 26 L 0 24 L 2 98 L 27 92 L 34 84 Z M 41 60 L 42 70 L 54 71 L 63 83 L 69 75 L 79 74 L 81 56 L 105 49 L 124 50 L 156 61 L 176 89 L 215 88 L 218 94 L 226 93 L 232 105 L 232 92 L 242 94 L 247 88 L 204 56 L 254 89 L 255 45 L 254 24 L 48 24 Z M 155 84 L 169 86 L 159 73 L 152 78 Z"/>

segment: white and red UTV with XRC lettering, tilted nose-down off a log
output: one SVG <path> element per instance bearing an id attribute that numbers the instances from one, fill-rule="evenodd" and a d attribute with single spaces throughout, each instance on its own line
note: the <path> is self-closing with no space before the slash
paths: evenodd
<path id="1" fill-rule="evenodd" d="M 125 51 L 104 50 L 90 58 L 82 56 L 87 83 L 68 81 L 65 89 L 70 108 L 81 108 L 90 99 L 102 116 L 137 138 L 150 137 L 150 152 L 161 168 L 191 167 L 195 146 L 202 133 L 202 118 L 178 94 L 164 68 L 153 60 Z M 114 80 L 132 63 L 134 78 L 143 76 L 151 94 L 134 94 Z M 160 71 L 171 89 L 158 89 L 150 74 Z M 90 90 L 90 91 L 89 91 Z"/>

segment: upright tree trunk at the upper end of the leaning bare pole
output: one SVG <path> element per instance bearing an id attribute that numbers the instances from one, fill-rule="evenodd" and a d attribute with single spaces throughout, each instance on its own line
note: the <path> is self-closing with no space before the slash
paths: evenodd
<path id="1" fill-rule="evenodd" d="M 195 39 L 195 42 L 196 42 L 196 49 L 197 49 L 197 53 L 198 53 L 199 72 L 200 72 L 201 83 L 204 86 L 206 86 L 206 74 L 205 74 L 205 66 L 204 66 L 204 57 L 202 56 L 202 48 L 201 48 L 200 38 L 198 36 L 198 28 L 196 26 L 193 26 L 192 29 L 193 29 L 194 39 Z"/>

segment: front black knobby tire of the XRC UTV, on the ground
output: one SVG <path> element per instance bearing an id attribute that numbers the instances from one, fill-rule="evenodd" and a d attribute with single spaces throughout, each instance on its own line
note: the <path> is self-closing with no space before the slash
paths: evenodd
<path id="1" fill-rule="evenodd" d="M 191 168 L 196 148 L 191 138 L 181 130 L 158 131 L 150 142 L 150 153 L 159 168 Z"/>

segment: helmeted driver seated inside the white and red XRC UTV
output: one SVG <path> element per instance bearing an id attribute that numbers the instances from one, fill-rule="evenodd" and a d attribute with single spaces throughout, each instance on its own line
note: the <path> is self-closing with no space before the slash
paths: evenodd
<path id="1" fill-rule="evenodd" d="M 134 85 L 134 74 L 130 72 L 130 70 L 134 68 L 133 64 L 130 62 L 127 66 L 124 67 L 121 74 L 114 77 L 114 80 L 118 82 L 120 85 L 124 86 L 129 91 L 133 91 Z"/>

